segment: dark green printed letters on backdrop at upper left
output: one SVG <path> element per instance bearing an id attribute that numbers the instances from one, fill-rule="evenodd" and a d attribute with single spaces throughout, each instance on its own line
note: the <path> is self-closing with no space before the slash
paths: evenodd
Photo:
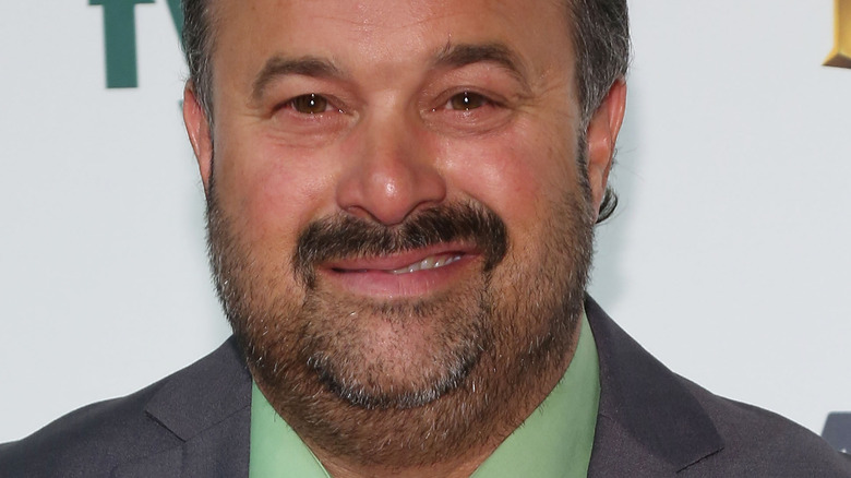
<path id="1" fill-rule="evenodd" d="M 88 0 L 89 5 L 104 10 L 104 51 L 106 52 L 107 88 L 135 88 L 139 86 L 136 67 L 136 14 L 135 7 L 154 3 L 155 0 Z M 178 33 L 183 29 L 183 12 L 180 0 L 160 0 L 168 3 L 171 21 Z"/>

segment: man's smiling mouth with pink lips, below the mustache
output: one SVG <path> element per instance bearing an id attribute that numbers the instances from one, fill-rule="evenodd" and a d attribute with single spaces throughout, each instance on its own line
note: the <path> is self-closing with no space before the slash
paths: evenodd
<path id="1" fill-rule="evenodd" d="M 358 296 L 376 299 L 394 299 L 428 296 L 450 288 L 458 274 L 469 268 L 475 255 L 463 255 L 451 264 L 394 274 L 388 271 L 337 271 L 320 268 L 322 278 Z"/>

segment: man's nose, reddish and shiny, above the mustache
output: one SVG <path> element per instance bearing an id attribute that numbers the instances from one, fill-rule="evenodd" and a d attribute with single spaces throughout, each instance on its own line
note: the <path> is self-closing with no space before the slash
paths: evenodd
<path id="1" fill-rule="evenodd" d="M 350 138 L 355 157 L 337 183 L 337 204 L 355 216 L 393 226 L 442 202 L 446 183 L 428 133 L 400 115 L 364 118 Z"/>

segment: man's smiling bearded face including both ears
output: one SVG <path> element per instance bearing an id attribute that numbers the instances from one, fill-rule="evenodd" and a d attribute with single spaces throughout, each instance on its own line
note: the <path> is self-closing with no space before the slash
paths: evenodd
<path id="1" fill-rule="evenodd" d="M 416 409 L 375 446 L 427 447 L 563 371 L 622 112 L 582 165 L 563 2 L 215 5 L 215 151 L 187 101 L 214 270 L 297 431 Z"/>

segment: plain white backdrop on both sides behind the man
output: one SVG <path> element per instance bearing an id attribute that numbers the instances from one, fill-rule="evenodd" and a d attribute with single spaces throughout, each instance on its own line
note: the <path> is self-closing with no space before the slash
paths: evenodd
<path id="1" fill-rule="evenodd" d="M 670 368 L 820 432 L 851 409 L 851 70 L 832 0 L 632 1 L 635 60 L 592 295 Z M 139 87 L 103 8 L 0 2 L 0 442 L 228 335 L 165 0 Z"/>

